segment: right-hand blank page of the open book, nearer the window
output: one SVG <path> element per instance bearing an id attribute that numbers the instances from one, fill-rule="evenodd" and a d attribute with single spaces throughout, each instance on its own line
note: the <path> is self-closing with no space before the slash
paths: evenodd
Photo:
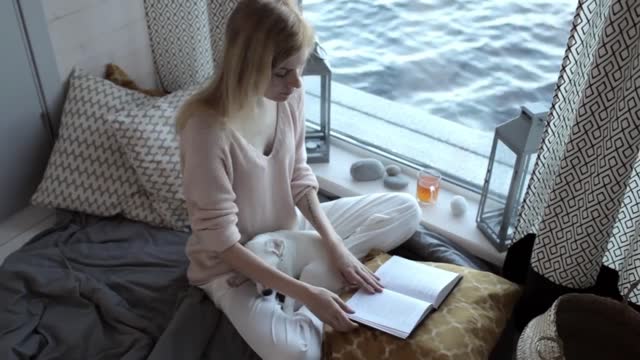
<path id="1" fill-rule="evenodd" d="M 438 307 L 451 291 L 460 275 L 433 266 L 420 264 L 399 256 L 392 256 L 376 271 L 382 285 L 389 290 L 414 297 Z M 440 296 L 439 296 L 440 295 Z"/>

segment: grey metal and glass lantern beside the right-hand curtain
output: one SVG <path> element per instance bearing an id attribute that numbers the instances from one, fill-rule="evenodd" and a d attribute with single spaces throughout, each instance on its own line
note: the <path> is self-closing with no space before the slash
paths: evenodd
<path id="1" fill-rule="evenodd" d="M 506 250 L 513 241 L 545 118 L 545 112 L 534 114 L 523 106 L 520 116 L 495 130 L 476 222 L 498 251 Z"/>

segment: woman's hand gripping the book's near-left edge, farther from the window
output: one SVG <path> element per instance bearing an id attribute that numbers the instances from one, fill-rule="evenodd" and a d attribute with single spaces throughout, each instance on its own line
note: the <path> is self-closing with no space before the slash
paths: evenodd
<path id="1" fill-rule="evenodd" d="M 300 301 L 325 324 L 338 331 L 350 331 L 358 327 L 347 317 L 353 310 L 331 291 L 308 285 L 305 295 Z"/>

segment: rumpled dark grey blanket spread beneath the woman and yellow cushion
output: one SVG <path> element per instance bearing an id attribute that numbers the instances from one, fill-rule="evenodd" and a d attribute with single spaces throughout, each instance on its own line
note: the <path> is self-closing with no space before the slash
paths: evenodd
<path id="1" fill-rule="evenodd" d="M 0 359 L 257 359 L 185 278 L 187 234 L 67 217 L 0 268 Z M 418 231 L 401 255 L 483 268 Z"/>

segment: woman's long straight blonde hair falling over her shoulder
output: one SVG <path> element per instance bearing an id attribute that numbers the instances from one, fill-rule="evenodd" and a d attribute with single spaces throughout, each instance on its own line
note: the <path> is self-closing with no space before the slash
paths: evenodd
<path id="1" fill-rule="evenodd" d="M 229 16 L 222 60 L 212 80 L 178 111 L 177 130 L 196 112 L 213 112 L 213 121 L 230 116 L 264 96 L 271 72 L 286 59 L 310 51 L 313 28 L 297 0 L 241 0 Z"/>

